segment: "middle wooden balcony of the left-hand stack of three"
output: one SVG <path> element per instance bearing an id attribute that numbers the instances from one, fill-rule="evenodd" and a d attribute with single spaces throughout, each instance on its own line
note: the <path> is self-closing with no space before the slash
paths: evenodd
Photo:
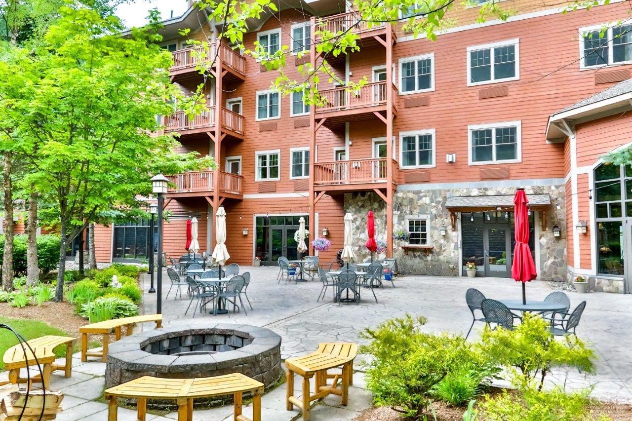
<path id="1" fill-rule="evenodd" d="M 204 133 L 215 127 L 215 106 L 207 106 L 208 111 L 198 114 L 193 118 L 188 118 L 184 111 L 176 111 L 171 116 L 164 117 L 164 131 L 178 131 L 181 136 Z M 227 134 L 243 139 L 243 116 L 228 108 L 221 109 L 222 131 Z"/>

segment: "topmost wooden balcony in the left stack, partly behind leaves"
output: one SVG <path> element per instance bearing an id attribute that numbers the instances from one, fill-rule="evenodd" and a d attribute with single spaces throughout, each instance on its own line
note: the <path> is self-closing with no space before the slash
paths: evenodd
<path id="1" fill-rule="evenodd" d="M 194 54 L 195 52 L 195 54 Z M 205 52 L 204 58 L 200 58 L 200 54 Z M 191 47 L 172 52 L 173 66 L 169 68 L 171 76 L 177 78 L 191 74 L 195 76 L 197 70 L 195 66 L 200 63 L 212 63 L 217 56 L 217 44 L 210 44 L 204 47 Z M 234 77 L 244 80 L 246 75 L 246 58 L 238 51 L 234 51 L 231 47 L 219 44 L 219 59 L 222 62 L 222 68 L 228 70 Z"/>

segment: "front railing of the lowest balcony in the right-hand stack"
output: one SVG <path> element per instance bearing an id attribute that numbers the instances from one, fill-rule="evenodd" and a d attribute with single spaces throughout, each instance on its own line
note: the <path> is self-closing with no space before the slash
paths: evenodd
<path id="1" fill-rule="evenodd" d="M 351 159 L 314 164 L 315 185 L 382 183 L 386 179 L 386 158 Z"/>

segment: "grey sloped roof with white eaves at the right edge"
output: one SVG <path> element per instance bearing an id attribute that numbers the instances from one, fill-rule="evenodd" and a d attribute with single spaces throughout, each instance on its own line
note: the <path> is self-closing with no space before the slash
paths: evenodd
<path id="1" fill-rule="evenodd" d="M 549 117 L 547 141 L 563 142 L 574 125 L 632 109 L 632 79 L 557 111 Z"/>

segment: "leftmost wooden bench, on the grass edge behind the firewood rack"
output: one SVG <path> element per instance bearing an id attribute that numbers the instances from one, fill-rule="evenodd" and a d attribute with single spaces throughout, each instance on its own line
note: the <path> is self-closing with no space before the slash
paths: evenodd
<path id="1" fill-rule="evenodd" d="M 4 368 L 9 370 L 9 383 L 18 384 L 27 382 L 27 379 L 20 377 L 20 369 L 28 369 L 27 360 L 29 366 L 37 365 L 37 362 L 42 366 L 42 375 L 32 375 L 30 381 L 43 381 L 46 389 L 50 387 L 51 373 L 53 371 L 64 370 L 64 375 L 70 377 L 72 374 L 73 343 L 75 340 L 75 338 L 69 338 L 68 336 L 41 336 L 40 338 L 27 341 L 33 350 L 32 352 L 26 345 L 24 345 L 24 348 L 22 348 L 20 344 L 11 346 L 11 348 L 6 350 L 3 357 Z M 54 363 L 57 358 L 54 350 L 62 345 L 66 345 L 66 362 L 64 365 L 58 365 Z M 37 357 L 37 362 L 35 362 L 35 357 Z"/>

